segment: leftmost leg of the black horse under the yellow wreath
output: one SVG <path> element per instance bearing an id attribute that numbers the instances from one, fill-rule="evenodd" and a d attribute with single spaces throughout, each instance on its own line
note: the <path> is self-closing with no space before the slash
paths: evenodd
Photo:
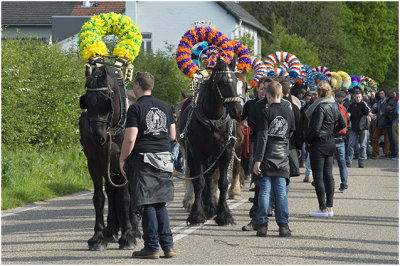
<path id="1" fill-rule="evenodd" d="M 88 165 L 89 166 L 89 165 Z M 89 167 L 89 171 L 92 169 Z M 96 213 L 96 221 L 94 226 L 94 235 L 88 240 L 89 250 L 104 250 L 107 248 L 107 241 L 104 239 L 104 193 L 103 193 L 103 177 L 95 175 L 90 171 L 94 185 L 93 205 Z"/>

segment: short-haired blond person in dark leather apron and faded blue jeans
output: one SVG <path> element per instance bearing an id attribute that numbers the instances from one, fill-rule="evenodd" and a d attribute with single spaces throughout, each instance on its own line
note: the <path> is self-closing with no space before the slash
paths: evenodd
<path id="1" fill-rule="evenodd" d="M 268 208 L 270 193 L 276 197 L 275 220 L 279 236 L 289 237 L 289 206 L 286 179 L 289 179 L 289 138 L 295 130 L 293 111 L 281 103 L 282 85 L 271 81 L 267 85 L 268 108 L 257 116 L 257 147 L 254 156 L 254 174 L 259 180 L 260 194 L 257 212 L 257 236 L 266 237 L 268 230 Z M 272 188 L 273 187 L 273 188 Z"/>

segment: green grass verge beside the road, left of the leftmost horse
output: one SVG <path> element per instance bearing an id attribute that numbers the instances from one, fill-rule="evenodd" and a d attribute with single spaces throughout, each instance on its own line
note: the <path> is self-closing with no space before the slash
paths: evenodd
<path id="1" fill-rule="evenodd" d="M 11 150 L 1 152 L 1 209 L 91 189 L 81 146 L 68 150 Z"/>

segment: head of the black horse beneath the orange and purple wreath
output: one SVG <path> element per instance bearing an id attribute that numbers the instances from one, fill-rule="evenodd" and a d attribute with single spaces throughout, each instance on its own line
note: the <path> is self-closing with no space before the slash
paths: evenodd
<path id="1" fill-rule="evenodd" d="M 235 75 L 235 61 L 230 64 L 218 57 L 210 80 L 216 88 L 220 100 L 231 118 L 237 119 L 242 114 L 242 87 Z"/>

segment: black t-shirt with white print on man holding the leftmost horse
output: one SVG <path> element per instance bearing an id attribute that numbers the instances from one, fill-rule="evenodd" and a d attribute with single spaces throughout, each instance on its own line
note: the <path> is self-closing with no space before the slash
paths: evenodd
<path id="1" fill-rule="evenodd" d="M 125 127 L 137 127 L 138 135 L 132 153 L 170 151 L 169 128 L 175 123 L 171 107 L 152 95 L 132 104 Z"/>

